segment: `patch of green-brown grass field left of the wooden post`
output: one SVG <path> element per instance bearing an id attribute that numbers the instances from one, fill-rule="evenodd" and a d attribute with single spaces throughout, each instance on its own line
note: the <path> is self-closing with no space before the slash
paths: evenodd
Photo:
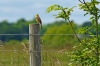
<path id="1" fill-rule="evenodd" d="M 26 51 L 22 46 L 1 46 L 0 66 L 29 66 L 29 54 Z"/>

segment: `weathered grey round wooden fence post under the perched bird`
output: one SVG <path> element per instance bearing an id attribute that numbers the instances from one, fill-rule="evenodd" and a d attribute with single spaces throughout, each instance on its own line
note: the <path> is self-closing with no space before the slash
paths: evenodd
<path id="1" fill-rule="evenodd" d="M 30 66 L 41 66 L 40 25 L 29 24 Z"/>

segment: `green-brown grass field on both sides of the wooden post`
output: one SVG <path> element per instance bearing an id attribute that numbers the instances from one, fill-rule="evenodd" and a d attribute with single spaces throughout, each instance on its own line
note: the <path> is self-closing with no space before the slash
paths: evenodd
<path id="1" fill-rule="evenodd" d="M 41 48 L 42 66 L 67 66 L 67 49 Z M 29 49 L 26 45 L 0 46 L 0 66 L 29 66 Z"/>

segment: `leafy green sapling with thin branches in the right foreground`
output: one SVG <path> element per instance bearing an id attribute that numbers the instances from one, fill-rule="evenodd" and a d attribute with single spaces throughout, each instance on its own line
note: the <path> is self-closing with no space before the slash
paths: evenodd
<path id="1" fill-rule="evenodd" d="M 100 66 L 100 36 L 99 36 L 99 24 L 98 24 L 98 20 L 100 18 L 99 15 L 100 9 L 97 7 L 97 5 L 99 5 L 100 2 L 97 0 L 91 0 L 90 2 L 86 2 L 85 0 L 83 1 L 79 0 L 79 1 L 81 3 L 78 4 L 80 10 L 86 12 L 84 16 L 91 15 L 90 20 L 92 22 L 90 26 L 84 26 L 82 28 L 79 28 L 78 34 L 84 36 L 82 39 L 80 39 L 77 36 L 76 31 L 75 29 L 73 29 L 73 26 L 71 24 L 71 20 L 69 16 L 71 14 L 71 11 L 73 11 L 73 8 L 64 9 L 62 6 L 52 5 L 47 8 L 47 12 L 51 12 L 53 10 L 54 11 L 61 10 L 61 12 L 59 12 L 56 15 L 56 18 L 63 18 L 65 19 L 65 21 L 67 20 L 70 23 L 76 35 L 76 38 L 80 42 L 80 44 L 73 47 L 72 52 L 69 52 L 69 57 L 71 58 L 71 62 L 69 63 L 69 66 L 75 66 L 75 65 L 76 66 L 78 65 L 79 66 Z M 55 31 L 55 29 L 53 29 L 53 31 Z M 95 31 L 96 33 L 93 34 L 91 30 Z"/>

